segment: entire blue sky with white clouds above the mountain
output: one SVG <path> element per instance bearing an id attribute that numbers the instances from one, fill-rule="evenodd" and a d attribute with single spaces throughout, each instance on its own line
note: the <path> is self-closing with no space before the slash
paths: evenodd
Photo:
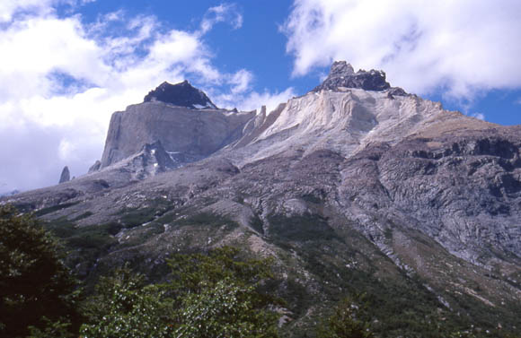
<path id="1" fill-rule="evenodd" d="M 445 108 L 521 124 L 517 0 L 2 0 L 0 193 L 83 175 L 110 114 L 188 79 L 219 106 L 275 107 L 333 60 Z"/>

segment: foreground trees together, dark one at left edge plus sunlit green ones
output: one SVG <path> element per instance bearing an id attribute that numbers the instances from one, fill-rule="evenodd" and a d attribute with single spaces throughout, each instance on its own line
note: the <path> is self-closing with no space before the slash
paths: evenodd
<path id="1" fill-rule="evenodd" d="M 11 207 L 0 216 L 2 336 L 278 337 L 282 302 L 259 288 L 272 278 L 267 259 L 239 260 L 233 247 L 176 255 L 167 282 L 123 267 L 80 299 L 57 240 Z"/>

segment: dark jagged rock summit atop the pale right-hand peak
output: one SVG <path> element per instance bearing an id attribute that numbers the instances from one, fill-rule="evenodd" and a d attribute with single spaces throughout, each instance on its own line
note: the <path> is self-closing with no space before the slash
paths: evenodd
<path id="1" fill-rule="evenodd" d="M 401 88 L 392 88 L 389 82 L 385 81 L 384 71 L 358 70 L 355 73 L 353 66 L 346 61 L 335 61 L 331 65 L 328 77 L 315 87 L 313 91 L 339 91 L 339 88 L 358 88 L 366 91 L 386 91 L 392 89 L 393 95 L 405 95 Z"/>

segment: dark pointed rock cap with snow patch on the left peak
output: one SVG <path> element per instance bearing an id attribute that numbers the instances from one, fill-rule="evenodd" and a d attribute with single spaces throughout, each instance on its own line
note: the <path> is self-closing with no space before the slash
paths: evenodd
<path id="1" fill-rule="evenodd" d="M 161 101 L 174 106 L 197 109 L 217 108 L 203 91 L 199 91 L 187 80 L 176 84 L 165 81 L 154 91 L 148 92 L 144 101 Z"/>

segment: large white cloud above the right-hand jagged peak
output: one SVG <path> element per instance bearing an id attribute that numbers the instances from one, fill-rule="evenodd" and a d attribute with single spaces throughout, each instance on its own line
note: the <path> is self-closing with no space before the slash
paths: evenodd
<path id="1" fill-rule="evenodd" d="M 406 91 L 472 100 L 521 86 L 519 13 L 516 0 L 296 0 L 281 30 L 296 76 L 347 60 Z"/>

